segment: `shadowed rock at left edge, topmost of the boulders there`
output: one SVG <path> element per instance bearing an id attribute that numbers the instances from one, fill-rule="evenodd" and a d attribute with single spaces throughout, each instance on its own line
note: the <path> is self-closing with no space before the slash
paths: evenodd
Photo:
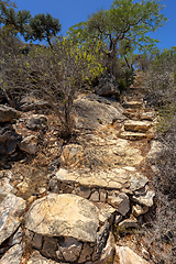
<path id="1" fill-rule="evenodd" d="M 20 118 L 20 112 L 14 108 L 7 107 L 4 105 L 0 105 L 0 123 L 3 122 L 14 122 Z"/>

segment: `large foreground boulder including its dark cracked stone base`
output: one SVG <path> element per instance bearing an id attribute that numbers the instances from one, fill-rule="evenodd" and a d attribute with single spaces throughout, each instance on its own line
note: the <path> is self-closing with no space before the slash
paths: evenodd
<path id="1" fill-rule="evenodd" d="M 59 262 L 96 262 L 102 257 L 102 251 L 106 261 L 112 254 L 108 221 L 111 213 L 105 215 L 79 196 L 51 194 L 34 201 L 28 211 L 28 239 L 44 256 Z M 103 226 L 100 226 L 99 215 Z M 111 242 L 107 245 L 108 238 Z"/>

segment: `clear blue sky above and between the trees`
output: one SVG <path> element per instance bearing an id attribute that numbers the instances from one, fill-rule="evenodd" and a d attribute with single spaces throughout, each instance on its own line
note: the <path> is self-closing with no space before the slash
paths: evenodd
<path id="1" fill-rule="evenodd" d="M 97 10 L 109 9 L 113 0 L 15 0 L 18 9 L 26 9 L 32 15 L 37 13 L 51 13 L 53 18 L 59 19 L 62 34 L 81 21 L 86 21 L 88 14 Z M 168 22 L 152 37 L 160 40 L 158 48 L 176 46 L 176 0 L 163 0 L 166 8 L 163 10 Z"/>

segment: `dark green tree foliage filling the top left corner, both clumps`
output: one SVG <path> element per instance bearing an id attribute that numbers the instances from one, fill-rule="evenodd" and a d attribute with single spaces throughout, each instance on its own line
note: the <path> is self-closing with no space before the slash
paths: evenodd
<path id="1" fill-rule="evenodd" d="M 20 33 L 25 41 L 43 41 L 46 40 L 50 46 L 51 38 L 56 36 L 61 31 L 58 19 L 54 19 L 51 14 L 41 13 L 32 18 L 28 10 L 15 10 L 13 2 L 0 1 L 0 26 L 3 32 L 9 35 Z"/>

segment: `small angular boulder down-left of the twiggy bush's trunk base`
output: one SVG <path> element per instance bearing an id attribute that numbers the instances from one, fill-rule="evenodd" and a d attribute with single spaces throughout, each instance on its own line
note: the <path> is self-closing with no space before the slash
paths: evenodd
<path id="1" fill-rule="evenodd" d="M 24 138 L 19 147 L 29 154 L 35 154 L 37 148 L 37 136 L 29 135 Z"/>

